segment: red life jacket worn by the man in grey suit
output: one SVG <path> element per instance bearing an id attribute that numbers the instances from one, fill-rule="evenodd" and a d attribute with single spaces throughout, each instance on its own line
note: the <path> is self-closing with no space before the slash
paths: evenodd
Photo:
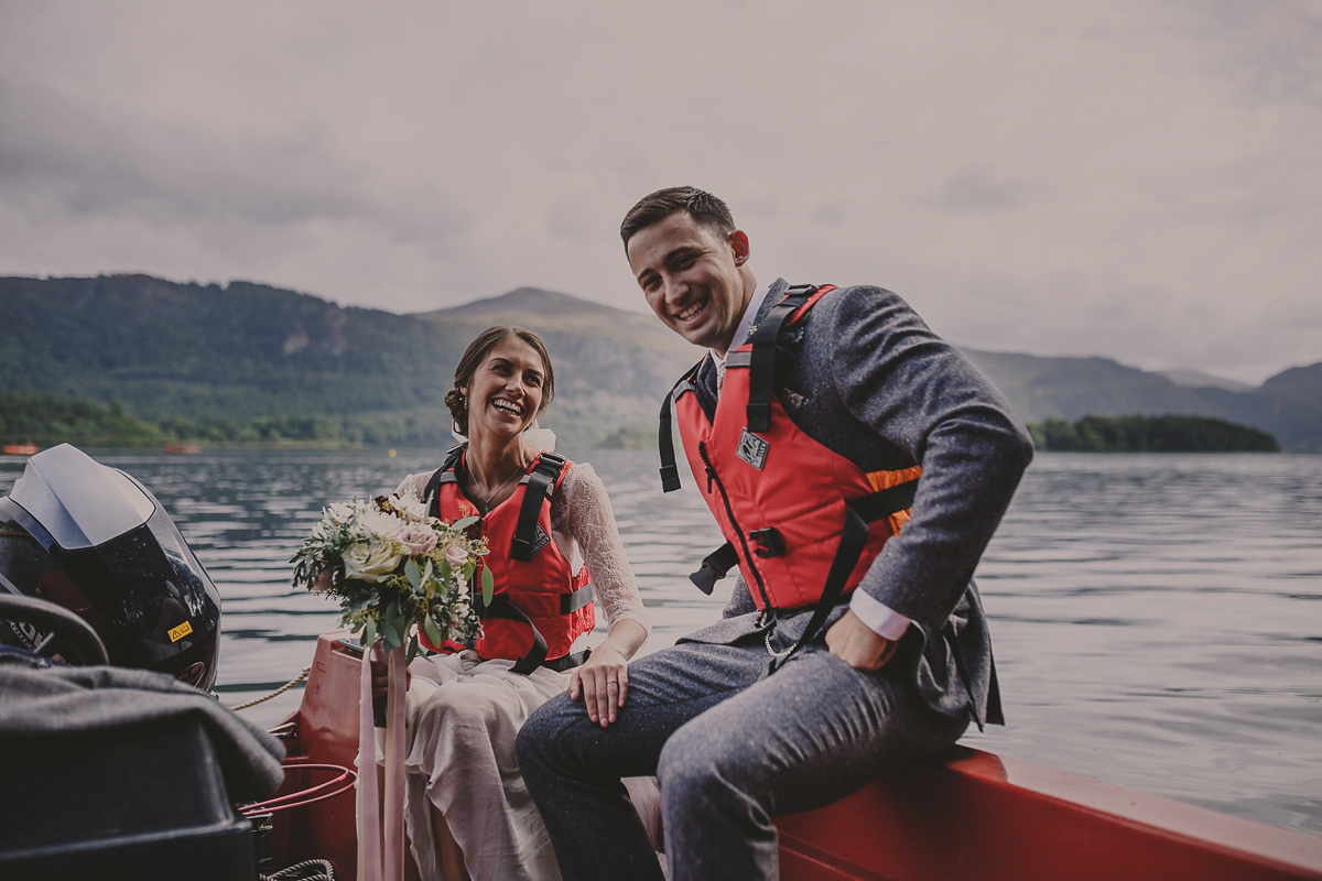
<path id="1" fill-rule="evenodd" d="M 775 395 L 776 339 L 834 289 L 789 288 L 748 342 L 727 353 L 715 417 L 707 419 L 694 366 L 661 408 L 661 482 L 680 487 L 670 402 L 698 489 L 727 543 L 690 576 L 711 593 L 735 564 L 764 614 L 817 604 L 808 642 L 841 596 L 854 590 L 887 539 L 908 520 L 923 469 L 863 472 L 800 429 Z"/>

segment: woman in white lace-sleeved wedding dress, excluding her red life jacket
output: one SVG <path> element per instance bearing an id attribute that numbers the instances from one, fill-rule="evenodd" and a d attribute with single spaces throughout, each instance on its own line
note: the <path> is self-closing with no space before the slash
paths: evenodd
<path id="1" fill-rule="evenodd" d="M 447 491 L 457 489 L 461 510 L 467 503 L 483 516 L 484 534 L 489 522 L 508 522 L 509 511 L 518 510 L 521 498 L 512 497 L 529 486 L 521 477 L 543 452 L 542 431 L 534 423 L 553 394 L 546 347 L 522 329 L 484 332 L 455 370 L 446 403 L 468 444 L 461 458 L 448 462 L 453 485 Z M 431 502 L 439 474 L 410 474 L 395 494 Z M 505 502 L 510 509 L 497 512 Z M 498 516 L 489 516 L 493 512 Z M 561 691 L 584 700 L 591 719 L 602 725 L 615 721 L 624 705 L 628 660 L 646 641 L 648 621 L 611 502 L 590 465 L 566 465 L 551 493 L 550 527 L 554 549 L 572 572 L 586 563 L 609 633 L 582 666 L 563 671 L 553 667 L 568 662 L 557 664 L 553 656 L 547 659 L 551 666 L 514 672 L 514 658 L 481 651 L 493 645 L 486 629 L 486 642 L 477 650 L 430 655 L 410 664 L 405 811 L 410 849 L 423 878 L 558 881 L 546 828 L 518 773 L 514 736 L 534 709 Z M 502 544 L 492 542 L 490 555 L 509 553 Z M 549 642 L 554 646 L 555 639 Z M 383 684 L 385 666 L 375 672 Z M 629 789 L 636 803 L 654 796 L 654 789 L 649 793 L 641 782 Z M 654 804 L 640 804 L 644 815 L 650 810 Z"/>

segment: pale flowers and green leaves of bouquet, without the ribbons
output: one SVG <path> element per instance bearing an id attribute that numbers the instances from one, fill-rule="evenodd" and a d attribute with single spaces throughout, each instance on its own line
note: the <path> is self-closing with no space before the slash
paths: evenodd
<path id="1" fill-rule="evenodd" d="M 476 522 L 444 523 L 418 499 L 330 505 L 290 560 L 293 584 L 338 597 L 342 623 L 361 633 L 365 646 L 378 635 L 387 650 L 407 643 L 412 660 L 420 654 L 416 631 L 410 634 L 414 623 L 435 646 L 464 642 L 481 627 L 468 585 L 486 539 L 464 535 Z M 489 604 L 493 585 L 485 567 L 481 581 Z"/>

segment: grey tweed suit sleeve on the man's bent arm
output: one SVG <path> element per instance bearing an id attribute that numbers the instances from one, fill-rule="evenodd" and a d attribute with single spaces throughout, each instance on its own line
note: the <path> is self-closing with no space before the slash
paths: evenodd
<path id="1" fill-rule="evenodd" d="M 1005 396 L 896 295 L 849 288 L 814 309 L 843 409 L 923 466 L 911 519 L 859 588 L 940 630 L 1032 458 Z M 832 302 L 832 300 L 834 302 Z M 826 334 L 825 338 L 821 334 Z"/>

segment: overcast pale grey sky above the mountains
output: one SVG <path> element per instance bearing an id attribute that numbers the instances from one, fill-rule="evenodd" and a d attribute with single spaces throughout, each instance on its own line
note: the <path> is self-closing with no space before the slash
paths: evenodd
<path id="1" fill-rule="evenodd" d="M 1322 361 L 1322 3 L 0 3 L 0 275 L 641 310 L 674 184 L 761 281 L 1260 382 Z"/>

